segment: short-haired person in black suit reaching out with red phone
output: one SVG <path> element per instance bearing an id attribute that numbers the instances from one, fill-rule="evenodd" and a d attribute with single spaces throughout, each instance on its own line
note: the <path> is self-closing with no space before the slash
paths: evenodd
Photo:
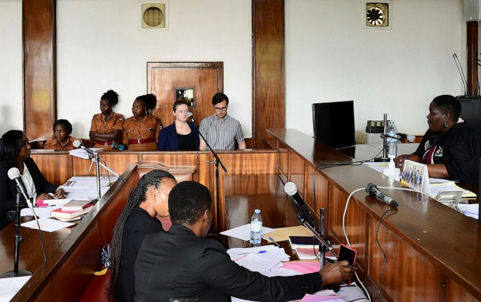
<path id="1" fill-rule="evenodd" d="M 326 264 L 319 272 L 291 277 L 266 277 L 237 265 L 224 246 L 204 238 L 212 221 L 208 189 L 193 181 L 176 185 L 169 194 L 172 227 L 148 235 L 135 263 L 135 301 L 198 298 L 230 301 L 290 301 L 321 286 L 350 279 L 347 261 Z"/>

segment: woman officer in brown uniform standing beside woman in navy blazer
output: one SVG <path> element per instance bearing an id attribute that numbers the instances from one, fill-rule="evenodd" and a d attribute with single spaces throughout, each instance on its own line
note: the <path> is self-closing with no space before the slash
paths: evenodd
<path id="1" fill-rule="evenodd" d="M 138 96 L 132 105 L 132 114 L 124 122 L 122 143 L 128 144 L 131 151 L 156 151 L 157 137 L 162 128 L 160 120 L 152 116 L 157 105 L 155 95 Z"/>

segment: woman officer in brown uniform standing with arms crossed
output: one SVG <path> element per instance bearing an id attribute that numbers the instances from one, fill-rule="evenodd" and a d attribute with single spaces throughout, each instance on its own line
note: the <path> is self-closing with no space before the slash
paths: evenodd
<path id="1" fill-rule="evenodd" d="M 94 148 L 104 148 L 104 150 L 116 150 L 119 148 L 122 136 L 122 126 L 124 117 L 112 111 L 112 108 L 119 102 L 119 95 L 109 90 L 100 97 L 100 111 L 92 118 L 90 126 L 90 139 L 95 141 Z"/>

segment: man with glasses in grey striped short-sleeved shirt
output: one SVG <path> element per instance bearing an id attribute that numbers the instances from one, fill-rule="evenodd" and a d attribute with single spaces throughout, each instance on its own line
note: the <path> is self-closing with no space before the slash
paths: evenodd
<path id="1" fill-rule="evenodd" d="M 234 138 L 239 144 L 239 149 L 245 149 L 244 135 L 240 123 L 235 118 L 227 115 L 229 98 L 219 92 L 212 97 L 214 114 L 200 122 L 199 131 L 214 150 L 233 150 Z M 207 143 L 200 137 L 199 150 L 206 150 Z"/>

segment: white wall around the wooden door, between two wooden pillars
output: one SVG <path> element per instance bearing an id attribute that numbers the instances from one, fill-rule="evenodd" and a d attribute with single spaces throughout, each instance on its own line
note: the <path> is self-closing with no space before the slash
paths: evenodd
<path id="1" fill-rule="evenodd" d="M 147 92 L 146 62 L 223 61 L 229 114 L 251 137 L 251 2 L 170 0 L 168 31 L 139 31 L 136 0 L 57 1 L 58 118 L 88 137 L 108 89 L 127 118 Z M 213 112 L 212 112 L 213 113 Z"/>

